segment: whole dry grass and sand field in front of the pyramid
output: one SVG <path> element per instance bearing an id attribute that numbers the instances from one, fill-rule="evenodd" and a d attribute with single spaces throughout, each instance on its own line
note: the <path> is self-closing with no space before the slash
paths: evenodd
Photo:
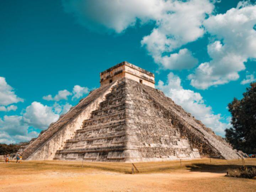
<path id="1" fill-rule="evenodd" d="M 211 161 L 211 162 L 210 162 Z M 256 165 L 256 159 L 246 159 Z M 226 177 L 238 160 L 135 163 L 0 163 L 0 191 L 256 191 L 256 180 Z"/>

